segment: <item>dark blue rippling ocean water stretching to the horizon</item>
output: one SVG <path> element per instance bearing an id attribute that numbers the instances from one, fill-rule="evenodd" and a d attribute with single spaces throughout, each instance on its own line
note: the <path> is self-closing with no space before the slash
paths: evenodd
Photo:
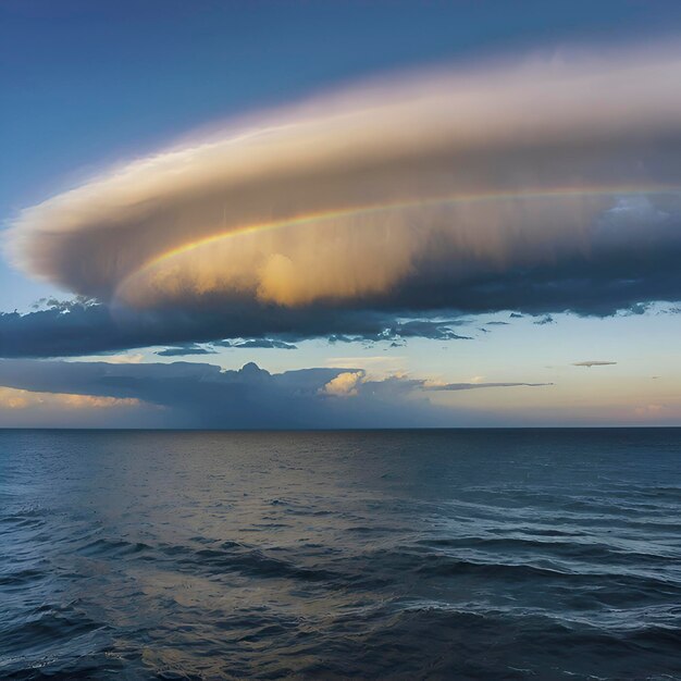
<path id="1" fill-rule="evenodd" d="M 0 432 L 1 679 L 681 679 L 681 430 Z"/>

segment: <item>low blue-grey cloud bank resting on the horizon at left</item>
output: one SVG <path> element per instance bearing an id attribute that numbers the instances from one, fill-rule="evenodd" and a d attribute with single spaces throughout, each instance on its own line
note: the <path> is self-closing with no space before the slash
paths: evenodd
<path id="1" fill-rule="evenodd" d="M 94 407 L 100 411 L 115 407 L 129 412 L 138 404 L 140 413 L 128 413 L 136 425 L 148 425 L 151 420 L 153 425 L 168 428 L 450 425 L 456 412 L 432 404 L 428 398 L 431 391 L 510 385 L 524 384 L 432 386 L 423 380 L 400 376 L 369 380 L 361 369 L 334 368 L 272 374 L 255 363 L 238 371 L 223 371 L 216 366 L 196 362 L 0 360 L 0 386 L 3 386 L 0 398 L 10 395 L 14 400 L 27 400 L 20 405 L 25 407 L 24 411 L 32 404 L 35 406 L 36 400 L 44 409 L 51 406 L 63 419 L 62 425 L 70 424 L 73 416 L 58 409 L 64 399 L 73 400 L 67 405 L 71 411 L 78 411 L 75 407 L 90 411 Z M 0 416 L 0 422 L 13 423 L 11 414 Z M 51 423 L 54 424 L 54 418 Z"/>

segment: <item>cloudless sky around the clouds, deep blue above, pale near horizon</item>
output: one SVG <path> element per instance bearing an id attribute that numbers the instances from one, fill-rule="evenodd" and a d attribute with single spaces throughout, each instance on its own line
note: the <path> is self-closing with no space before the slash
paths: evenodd
<path id="1" fill-rule="evenodd" d="M 540 55 L 550 61 L 575 46 L 596 52 L 627 50 L 630 45 L 655 49 L 656 45 L 669 45 L 679 28 L 681 5 L 677 2 L 523 1 L 511 7 L 473 1 L 5 1 L 0 8 L 0 219 L 9 227 L 23 209 L 78 187 L 111 166 L 144 159 L 178 141 L 210 137 L 225 122 L 252 112 L 273 111 L 268 115 L 276 117 L 276 112 L 289 104 L 309 97 L 323 99 L 324 94 L 351 89 L 355 83 L 413 79 L 414 73 L 466 70 L 485 60 L 504 61 L 507 55 Z M 403 73 L 408 75 L 399 75 Z M 667 183 L 676 176 L 672 170 L 665 175 Z M 616 210 L 620 199 L 610 198 L 612 203 L 606 208 Z M 668 215 L 663 203 L 651 205 L 648 212 Z M 73 263 L 69 267 L 74 269 Z M 39 298 L 69 298 L 77 288 L 62 285 L 60 290 L 53 283 L 36 281 L 36 274 L 40 272 L 35 269 L 33 276 L 13 269 L 7 259 L 0 262 L 0 310 L 28 312 Z M 658 292 L 664 285 L 653 288 Z M 624 310 L 612 315 L 608 310 L 604 317 L 585 309 L 583 313 L 589 315 L 584 318 L 564 314 L 560 306 L 553 309 L 544 301 L 529 306 L 522 318 L 510 317 L 513 308 L 494 305 L 485 310 L 455 310 L 454 331 L 470 338 L 461 340 L 414 335 L 398 343 L 363 338 L 330 344 L 329 330 L 310 334 L 306 321 L 305 331 L 297 336 L 282 336 L 297 349 L 207 346 L 206 342 L 227 336 L 201 331 L 203 335 L 195 338 L 189 332 L 182 337 L 171 334 L 166 343 L 149 347 L 103 348 L 100 344 L 91 352 L 62 355 L 54 346 L 53 352 L 28 357 L 95 361 L 102 358 L 101 350 L 109 352 L 104 359 L 113 354 L 116 361 L 171 363 L 177 357 L 156 352 L 199 342 L 209 355 L 179 359 L 225 369 L 256 361 L 273 373 L 357 369 L 364 372 L 361 381 L 367 384 L 396 375 L 403 382 L 408 376 L 443 384 L 553 384 L 428 395 L 417 386 L 413 389 L 421 392 L 410 399 L 426 399 L 444 410 L 436 417 L 423 416 L 423 423 L 448 423 L 449 413 L 453 424 L 679 423 L 681 399 L 674 386 L 681 379 L 681 362 L 674 338 L 681 323 L 679 314 L 670 313 L 674 297 L 666 290 L 667 302 L 653 305 L 645 314 Z M 646 295 L 642 302 L 656 298 Z M 438 313 L 439 319 L 454 319 L 448 308 Z M 550 323 L 536 323 L 545 319 Z M 505 324 L 486 325 L 488 322 Z M 349 335 L 352 329 L 348 326 Z M 52 332 L 39 326 L 33 333 L 50 336 Z M 5 356 L 15 357 L 16 352 Z M 573 366 L 587 360 L 614 363 Z M 15 383 L 7 389 L 70 394 L 65 385 L 60 383 L 59 391 L 46 385 L 37 391 L 27 381 L 25 386 Z M 321 383 L 315 389 L 323 393 L 326 385 Z M 350 386 L 351 391 L 356 388 Z M 368 391 L 359 397 L 368 400 Z M 357 395 L 344 404 L 352 397 Z M 133 395 L 121 399 L 128 398 L 136 399 Z M 12 399 L 23 404 L 15 395 Z M 51 423 L 76 418 L 73 410 L 66 409 L 64 416 L 54 405 L 44 405 L 32 416 L 35 404 L 25 404 L 22 423 L 40 422 L 47 418 L 46 410 L 51 410 Z M 83 404 L 78 403 L 78 409 Z M 401 413 L 403 403 L 391 404 L 393 414 Z M 101 408 L 101 404 L 92 407 L 98 414 Z M 126 410 L 133 409 L 128 403 L 112 403 L 112 419 L 120 419 L 121 424 L 132 418 L 126 416 Z M 342 411 L 338 418 L 349 424 L 359 422 L 348 416 L 349 408 Z M 385 407 L 383 416 L 376 412 L 376 419 L 387 418 L 388 411 Z M 17 413 L 16 408 L 8 408 L 0 424 L 17 423 Z M 79 413 L 77 422 L 89 423 L 88 413 Z M 144 423 L 139 411 L 136 414 L 135 424 Z M 154 423 L 159 420 L 153 419 Z"/>

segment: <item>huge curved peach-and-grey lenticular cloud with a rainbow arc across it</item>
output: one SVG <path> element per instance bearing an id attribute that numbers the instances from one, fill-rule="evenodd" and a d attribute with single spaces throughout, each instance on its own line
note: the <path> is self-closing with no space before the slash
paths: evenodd
<path id="1" fill-rule="evenodd" d="M 656 48 L 364 84 L 28 208 L 10 251 L 141 310 L 676 300 L 679 82 L 681 50 Z"/>

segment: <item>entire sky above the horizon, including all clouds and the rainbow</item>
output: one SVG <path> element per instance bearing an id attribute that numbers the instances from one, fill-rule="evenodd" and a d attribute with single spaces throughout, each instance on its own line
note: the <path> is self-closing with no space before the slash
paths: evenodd
<path id="1" fill-rule="evenodd" d="M 0 4 L 0 426 L 680 425 L 678 2 Z"/>

